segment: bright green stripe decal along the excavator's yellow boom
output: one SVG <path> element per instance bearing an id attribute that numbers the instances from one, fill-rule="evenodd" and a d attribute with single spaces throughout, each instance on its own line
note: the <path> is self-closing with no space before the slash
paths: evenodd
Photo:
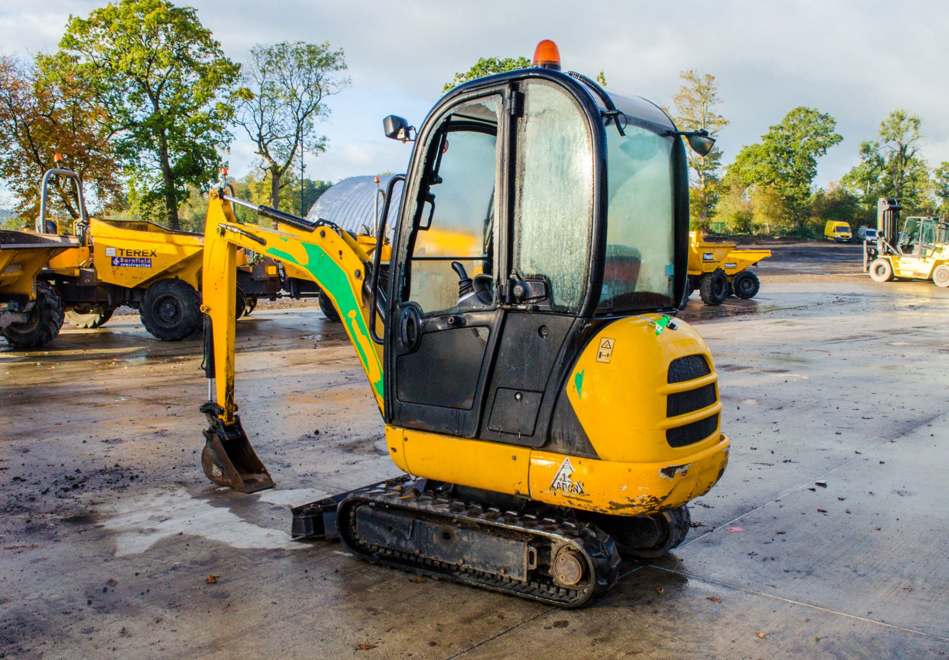
<path id="1" fill-rule="evenodd" d="M 382 365 L 379 356 L 372 348 L 372 339 L 363 319 L 363 310 L 356 295 L 349 285 L 349 278 L 336 261 L 334 261 L 322 247 L 309 243 L 300 244 L 307 252 L 307 264 L 301 264 L 293 255 L 282 249 L 268 247 L 264 251 L 280 261 L 300 266 L 313 276 L 313 280 L 320 285 L 339 308 L 344 320 L 349 340 L 356 349 L 356 354 L 363 363 L 363 369 L 369 377 L 369 384 L 376 393 L 382 395 Z"/>

